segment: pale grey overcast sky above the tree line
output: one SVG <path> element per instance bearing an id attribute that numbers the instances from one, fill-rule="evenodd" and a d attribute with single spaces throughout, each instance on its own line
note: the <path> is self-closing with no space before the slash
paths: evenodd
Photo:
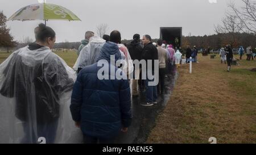
<path id="1" fill-rule="evenodd" d="M 220 23 L 230 1 L 241 6 L 241 0 L 47 0 L 74 12 L 82 22 L 49 21 L 56 32 L 56 41 L 80 41 L 85 31 L 96 31 L 106 23 L 119 30 L 122 39 L 131 39 L 134 33 L 159 37 L 159 27 L 183 27 L 183 35 L 211 35 L 214 24 Z M 9 18 L 21 7 L 38 3 L 38 0 L 0 0 L 0 10 Z M 43 21 L 7 22 L 15 40 L 34 38 L 34 28 Z"/>

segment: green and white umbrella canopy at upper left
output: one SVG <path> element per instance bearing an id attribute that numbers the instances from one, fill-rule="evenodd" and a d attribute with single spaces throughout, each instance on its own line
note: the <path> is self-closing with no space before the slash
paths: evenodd
<path id="1" fill-rule="evenodd" d="M 19 9 L 8 20 L 80 20 L 65 7 L 38 3 Z"/>

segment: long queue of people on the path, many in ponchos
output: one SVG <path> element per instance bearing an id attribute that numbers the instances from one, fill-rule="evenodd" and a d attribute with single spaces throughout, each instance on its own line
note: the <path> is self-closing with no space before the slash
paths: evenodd
<path id="1" fill-rule="evenodd" d="M 94 32 L 85 33 L 77 51 L 73 68 L 52 52 L 56 34 L 51 27 L 39 24 L 35 28 L 34 43 L 13 52 L 0 65 L 0 142 L 67 143 L 77 129 L 81 129 L 84 143 L 113 143 L 119 131 L 127 132 L 131 125 L 131 98 L 146 95 L 142 106 L 158 104 L 158 95 L 164 94 L 164 79 L 180 66 L 181 53 L 172 45 L 157 45 L 150 35 L 133 36 L 131 43 L 121 43 L 117 30 L 102 38 Z M 116 66 L 112 59 L 125 65 Z M 104 60 L 113 72 L 104 73 L 114 79 L 99 79 Z M 136 68 L 135 60 L 158 61 L 150 72 L 159 72 L 159 84 L 150 85 L 154 79 L 143 68 Z M 137 79 L 119 79 L 121 73 Z M 148 68 L 147 68 L 148 72 Z M 139 93 L 141 91 L 142 93 Z M 74 123 L 75 122 L 75 125 Z M 78 127 L 78 128 L 77 128 Z M 3 134 L 4 133 L 4 134 Z"/>

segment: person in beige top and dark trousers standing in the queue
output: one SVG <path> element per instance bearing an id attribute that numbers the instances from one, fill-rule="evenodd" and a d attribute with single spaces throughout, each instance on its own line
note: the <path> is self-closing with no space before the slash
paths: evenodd
<path id="1" fill-rule="evenodd" d="M 158 83 L 158 93 L 164 94 L 164 78 L 166 76 L 166 63 L 167 63 L 167 52 L 166 49 L 162 47 L 163 40 L 158 40 L 158 60 L 159 60 L 159 83 Z"/>

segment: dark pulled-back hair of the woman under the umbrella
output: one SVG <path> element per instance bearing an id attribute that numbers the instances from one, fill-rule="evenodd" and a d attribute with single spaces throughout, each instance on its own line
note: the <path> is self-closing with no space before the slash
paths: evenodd
<path id="1" fill-rule="evenodd" d="M 43 23 L 39 24 L 38 27 L 39 28 L 38 32 L 36 33 L 36 40 L 44 42 L 46 41 L 47 37 L 51 37 L 51 39 L 53 39 L 56 36 L 51 27 L 48 27 Z"/>

